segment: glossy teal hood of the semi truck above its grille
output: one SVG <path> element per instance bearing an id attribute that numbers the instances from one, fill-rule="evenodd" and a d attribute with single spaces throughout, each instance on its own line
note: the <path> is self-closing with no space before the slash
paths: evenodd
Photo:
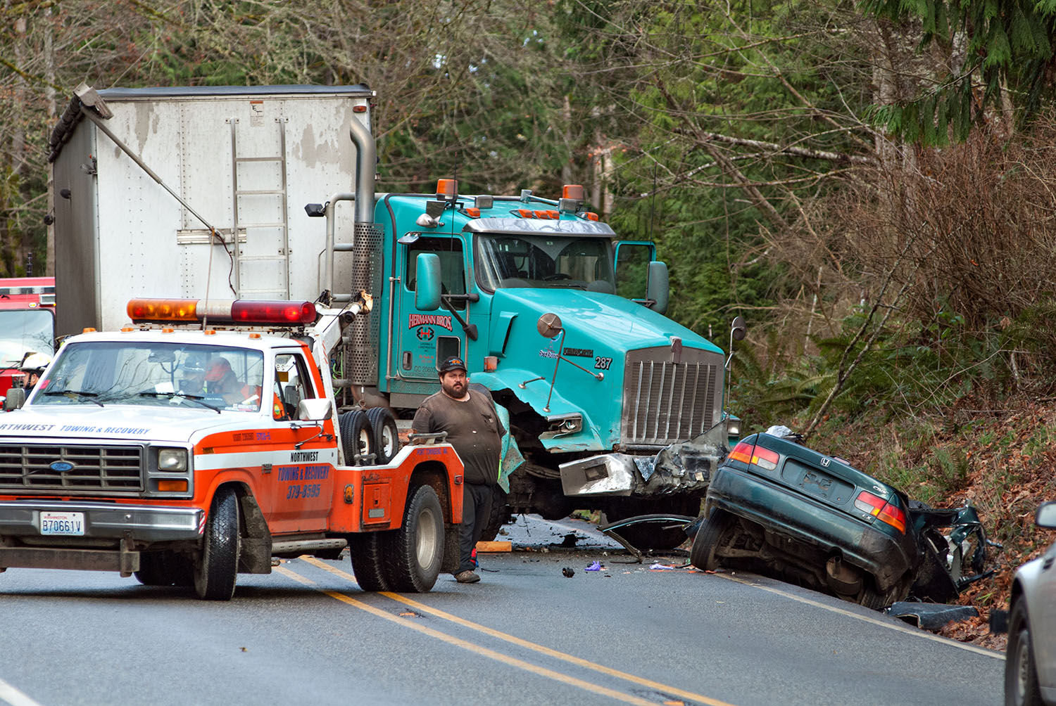
<path id="1" fill-rule="evenodd" d="M 578 289 L 499 289 L 492 300 L 492 319 L 502 311 L 535 319 L 560 311 L 565 346 L 600 346 L 618 354 L 635 348 L 671 345 L 672 337 L 682 345 L 721 354 L 721 349 L 685 326 L 623 297 Z M 546 339 L 540 338 L 544 346 Z"/>

